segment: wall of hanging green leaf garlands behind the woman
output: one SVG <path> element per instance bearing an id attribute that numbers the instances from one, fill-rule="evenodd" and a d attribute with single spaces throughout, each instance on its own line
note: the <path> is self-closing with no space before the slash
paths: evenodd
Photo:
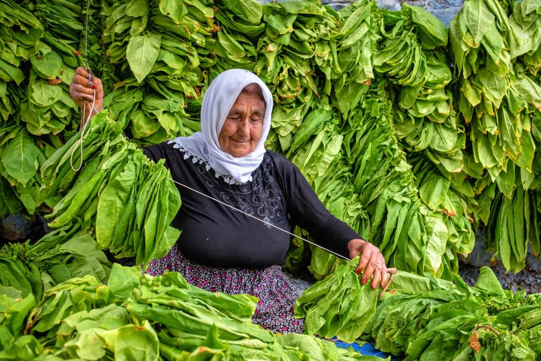
<path id="1" fill-rule="evenodd" d="M 267 147 L 390 266 L 451 279 L 478 227 L 507 270 L 538 255 L 539 2 L 466 0 L 448 29 L 366 0 L 89 4 L 0 1 L 0 217 L 52 212 L 39 169 L 77 132 L 77 66 L 138 146 L 199 130 L 209 82 L 244 68 L 274 95 Z M 337 260 L 293 240 L 286 267 L 307 264 Z"/>

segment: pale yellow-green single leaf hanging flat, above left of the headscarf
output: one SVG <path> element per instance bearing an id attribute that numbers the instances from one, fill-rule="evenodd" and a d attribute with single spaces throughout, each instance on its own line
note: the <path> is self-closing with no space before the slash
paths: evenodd
<path id="1" fill-rule="evenodd" d="M 141 83 L 150 73 L 160 54 L 161 35 L 148 34 L 130 38 L 126 58 L 137 82 Z"/>

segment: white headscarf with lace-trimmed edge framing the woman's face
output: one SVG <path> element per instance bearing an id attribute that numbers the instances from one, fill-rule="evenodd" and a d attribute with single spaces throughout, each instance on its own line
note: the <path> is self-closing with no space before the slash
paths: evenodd
<path id="1" fill-rule="evenodd" d="M 252 153 L 234 157 L 223 152 L 218 135 L 242 89 L 252 83 L 261 87 L 267 103 L 261 138 Z M 204 94 L 201 106 L 201 132 L 188 137 L 178 137 L 173 142 L 186 149 L 190 155 L 206 161 L 214 169 L 216 176 L 225 176 L 226 182 L 246 183 L 252 180 L 252 172 L 259 167 L 265 155 L 265 140 L 271 129 L 272 104 L 271 91 L 258 76 L 248 70 L 226 70 L 210 83 Z"/>

